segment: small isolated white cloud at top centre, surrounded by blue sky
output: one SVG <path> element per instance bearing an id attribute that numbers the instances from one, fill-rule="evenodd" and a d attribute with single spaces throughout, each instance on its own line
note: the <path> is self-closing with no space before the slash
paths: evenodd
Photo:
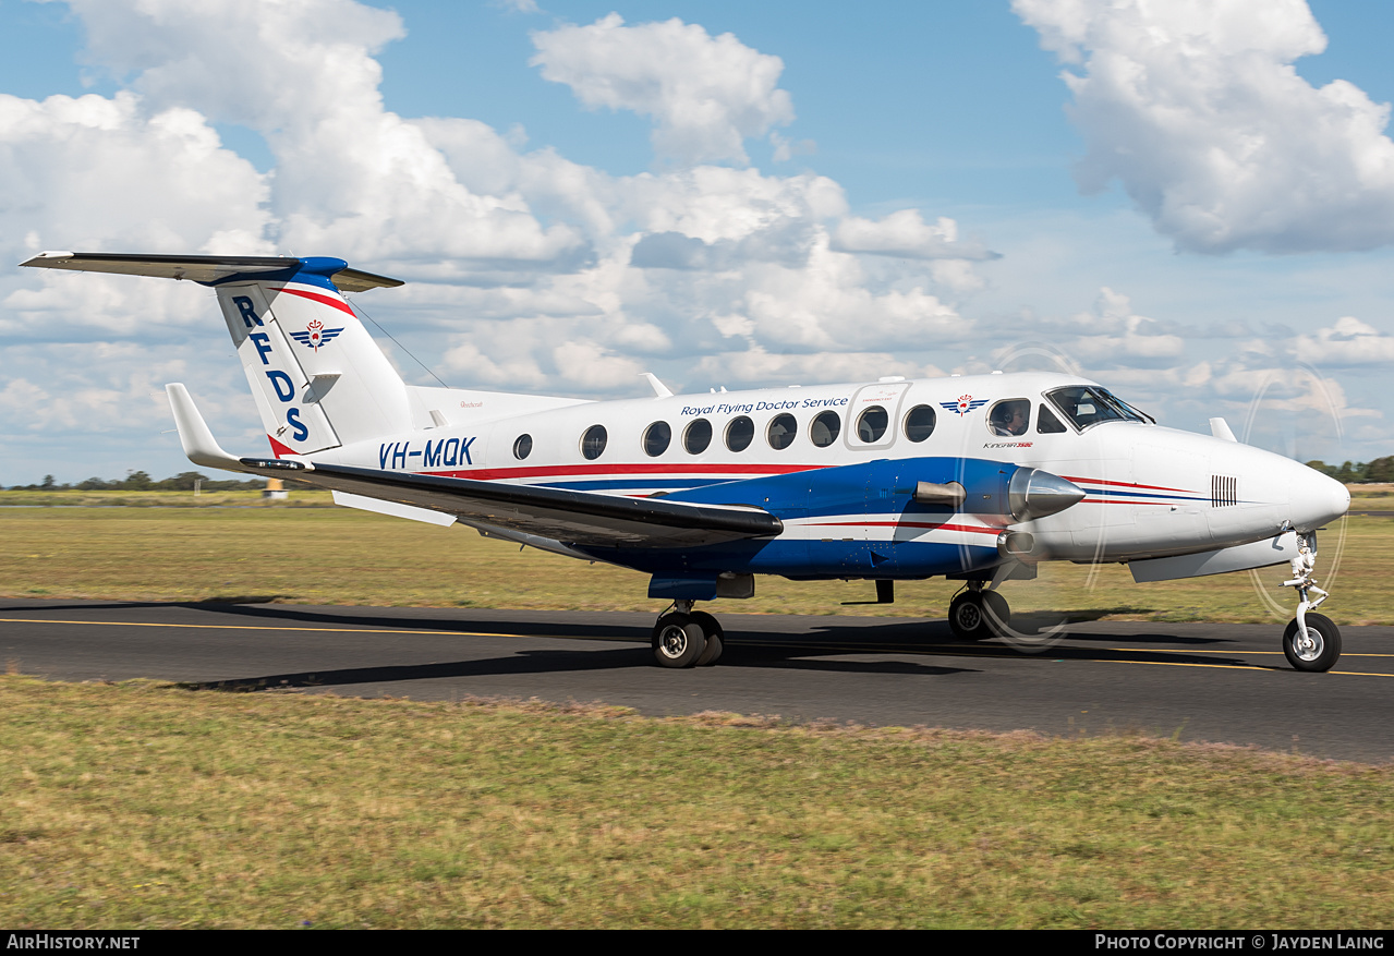
<path id="1" fill-rule="evenodd" d="M 793 121 L 793 100 L 778 86 L 783 61 L 732 33 L 711 36 L 676 18 L 626 26 L 612 13 L 538 31 L 533 45 L 533 65 L 585 106 L 652 117 L 654 149 L 676 163 L 746 163 L 744 139 Z"/>

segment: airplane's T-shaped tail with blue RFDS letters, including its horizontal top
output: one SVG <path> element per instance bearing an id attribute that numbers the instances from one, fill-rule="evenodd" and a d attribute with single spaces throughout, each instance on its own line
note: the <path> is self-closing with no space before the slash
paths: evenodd
<path id="1" fill-rule="evenodd" d="M 277 457 L 411 428 L 406 383 L 340 293 L 396 279 L 330 258 L 43 252 L 22 265 L 212 286 Z"/>

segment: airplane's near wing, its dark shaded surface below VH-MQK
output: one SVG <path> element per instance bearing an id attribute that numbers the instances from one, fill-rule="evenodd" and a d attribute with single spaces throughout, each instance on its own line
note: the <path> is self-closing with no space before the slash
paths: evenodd
<path id="1" fill-rule="evenodd" d="M 569 545 L 691 548 L 783 531 L 779 518 L 744 504 L 619 498 L 286 458 L 240 458 L 240 464 L 256 474 L 454 514 L 468 524 L 521 531 Z"/>

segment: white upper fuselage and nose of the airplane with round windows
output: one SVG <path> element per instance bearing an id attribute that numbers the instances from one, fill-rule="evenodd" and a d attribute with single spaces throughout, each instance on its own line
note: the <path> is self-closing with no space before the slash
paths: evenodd
<path id="1" fill-rule="evenodd" d="M 1209 550 L 1271 537 L 1284 525 L 1315 530 L 1344 514 L 1349 503 L 1342 485 L 1281 456 L 1136 419 L 1079 426 L 1047 397 L 1064 386 L 1089 385 L 1032 372 L 570 403 L 413 389 L 425 413 L 417 419 L 443 424 L 308 457 L 630 496 L 874 460 L 1001 461 L 1066 478 L 1086 498 L 1018 524 L 1001 514 L 976 514 L 972 502 L 952 521 L 923 527 L 888 521 L 874 507 L 857 509 L 845 516 L 786 518 L 781 537 L 905 541 L 921 535 L 944 543 L 991 545 L 1009 525 L 1034 538 L 1033 559 L 1083 562 Z M 531 406 L 519 408 L 524 400 Z M 1001 403 L 1022 400 L 1030 411 L 1015 425 L 1020 432 L 997 433 L 1004 429 L 994 429 L 988 415 Z M 537 410 L 538 401 L 552 407 Z M 934 413 L 927 436 L 923 407 Z M 1043 407 L 1050 413 L 1043 415 Z M 828 413 L 836 417 L 835 438 Z M 907 429 L 912 413 L 919 432 Z M 1062 431 L 1041 431 L 1057 424 L 1051 417 L 1064 424 Z M 655 424 L 661 425 L 651 431 Z M 662 425 L 666 445 L 659 440 Z M 604 429 L 604 443 L 595 426 Z M 742 446 L 744 433 L 750 440 Z M 912 440 L 912 433 L 920 440 Z M 868 500 L 875 492 L 867 491 Z"/>

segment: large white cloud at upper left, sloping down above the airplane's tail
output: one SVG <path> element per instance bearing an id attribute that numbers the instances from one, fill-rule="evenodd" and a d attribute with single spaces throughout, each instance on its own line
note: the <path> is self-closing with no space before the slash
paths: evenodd
<path id="1" fill-rule="evenodd" d="M 269 237 L 280 248 L 374 258 L 576 268 L 570 226 L 544 227 L 514 192 L 461 183 L 428 130 L 383 109 L 372 53 L 404 35 L 353 0 L 72 0 L 89 57 L 128 77 L 130 109 L 183 109 L 261 132 L 276 157 Z M 138 105 L 138 106 L 134 106 Z"/>

